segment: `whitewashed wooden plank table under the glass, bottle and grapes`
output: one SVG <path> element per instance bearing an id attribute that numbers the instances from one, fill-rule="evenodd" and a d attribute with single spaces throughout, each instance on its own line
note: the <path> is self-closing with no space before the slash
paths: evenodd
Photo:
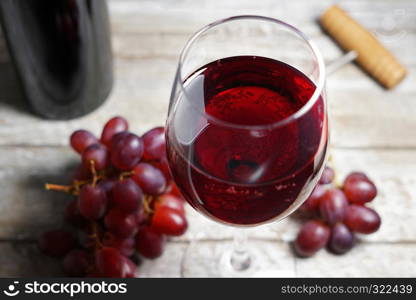
<path id="1" fill-rule="evenodd" d="M 69 121 L 46 121 L 28 113 L 16 75 L 0 43 L 0 276 L 59 275 L 59 262 L 41 255 L 36 237 L 62 224 L 68 196 L 43 190 L 45 182 L 66 182 L 76 155 L 69 134 L 78 128 L 99 133 L 114 115 L 129 119 L 138 133 L 164 123 L 178 55 L 192 32 L 230 15 L 281 18 L 310 35 L 330 62 L 341 55 L 316 23 L 333 1 L 310 0 L 111 0 L 116 81 L 108 101 L 94 113 Z M 356 65 L 327 81 L 332 155 L 341 177 L 364 170 L 380 193 L 373 206 L 383 224 L 360 236 L 347 255 L 321 251 L 310 259 L 292 255 L 288 241 L 299 224 L 293 218 L 250 231 L 252 246 L 294 276 L 416 276 L 416 2 L 342 1 L 409 70 L 405 81 L 385 91 Z M 210 252 L 231 238 L 231 229 L 188 209 L 188 233 L 173 239 L 165 254 L 145 261 L 141 276 L 178 277 L 212 267 L 190 260 L 190 240 Z"/>

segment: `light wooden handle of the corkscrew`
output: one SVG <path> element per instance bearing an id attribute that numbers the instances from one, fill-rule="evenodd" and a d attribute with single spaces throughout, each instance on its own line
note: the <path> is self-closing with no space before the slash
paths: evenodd
<path id="1" fill-rule="evenodd" d="M 344 50 L 355 51 L 356 62 L 385 88 L 393 88 L 406 76 L 398 60 L 339 6 L 328 8 L 320 23 Z"/>

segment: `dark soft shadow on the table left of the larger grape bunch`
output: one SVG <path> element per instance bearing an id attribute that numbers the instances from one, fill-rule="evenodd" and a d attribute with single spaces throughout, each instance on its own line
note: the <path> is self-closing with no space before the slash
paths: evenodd
<path id="1" fill-rule="evenodd" d="M 45 190 L 45 183 L 67 185 L 76 167 L 72 161 L 55 169 L 28 170 L 27 176 L 16 182 L 16 189 L 21 191 L 15 201 L 18 219 L 10 226 L 12 239 L 0 241 L 0 276 L 27 277 L 63 276 L 62 259 L 44 255 L 38 248 L 39 236 L 49 230 L 68 229 L 71 226 L 64 221 L 65 207 L 75 197 L 63 192 Z"/>

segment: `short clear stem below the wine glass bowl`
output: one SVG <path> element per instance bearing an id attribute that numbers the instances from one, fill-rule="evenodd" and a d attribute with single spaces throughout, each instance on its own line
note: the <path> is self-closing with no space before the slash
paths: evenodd
<path id="1" fill-rule="evenodd" d="M 250 267 L 251 257 L 247 250 L 246 230 L 234 230 L 234 243 L 230 259 L 231 266 L 235 271 L 244 271 Z"/>

